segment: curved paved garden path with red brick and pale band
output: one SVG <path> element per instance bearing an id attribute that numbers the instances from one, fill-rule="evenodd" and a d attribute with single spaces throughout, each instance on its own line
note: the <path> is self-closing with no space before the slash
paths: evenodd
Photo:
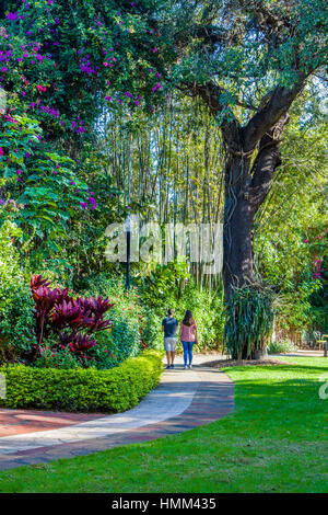
<path id="1" fill-rule="evenodd" d="M 221 419 L 233 410 L 234 386 L 197 356 L 192 370 L 177 357 L 161 384 L 137 408 L 117 413 L 77 414 L 0 409 L 0 469 L 87 455 L 148 442 Z"/>

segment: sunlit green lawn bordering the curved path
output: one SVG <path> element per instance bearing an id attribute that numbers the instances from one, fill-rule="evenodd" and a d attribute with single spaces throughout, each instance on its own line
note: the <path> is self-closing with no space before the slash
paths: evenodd
<path id="1" fill-rule="evenodd" d="M 236 407 L 219 422 L 3 471 L 0 492 L 325 492 L 328 400 L 318 389 L 328 359 L 281 360 L 286 365 L 226 369 Z"/>

